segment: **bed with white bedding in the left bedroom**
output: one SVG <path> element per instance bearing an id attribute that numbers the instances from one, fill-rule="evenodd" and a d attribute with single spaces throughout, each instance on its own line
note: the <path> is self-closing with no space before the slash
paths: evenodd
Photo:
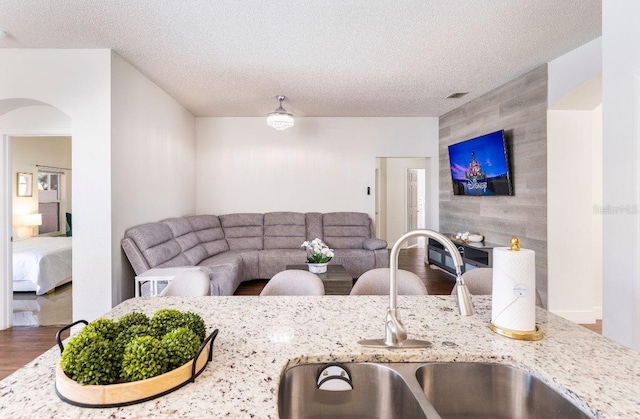
<path id="1" fill-rule="evenodd" d="M 13 242 L 13 290 L 46 294 L 71 281 L 71 237 Z"/>

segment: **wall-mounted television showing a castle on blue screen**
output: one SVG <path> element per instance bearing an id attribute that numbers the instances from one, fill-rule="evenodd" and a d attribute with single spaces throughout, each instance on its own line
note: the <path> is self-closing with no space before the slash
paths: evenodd
<path id="1" fill-rule="evenodd" d="M 513 195 L 504 130 L 449 146 L 454 195 Z"/>

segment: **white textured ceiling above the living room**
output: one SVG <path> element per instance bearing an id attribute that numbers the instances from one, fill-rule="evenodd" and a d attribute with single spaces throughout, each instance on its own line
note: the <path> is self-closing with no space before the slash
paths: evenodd
<path id="1" fill-rule="evenodd" d="M 0 0 L 0 48 L 111 48 L 196 116 L 439 116 L 601 34 L 601 0 Z M 470 92 L 444 99 L 452 92 Z"/>

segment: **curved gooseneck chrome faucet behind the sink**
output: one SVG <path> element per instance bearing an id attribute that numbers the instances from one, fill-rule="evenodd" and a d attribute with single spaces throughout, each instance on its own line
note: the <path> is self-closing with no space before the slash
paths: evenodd
<path id="1" fill-rule="evenodd" d="M 384 339 L 361 340 L 358 343 L 367 347 L 387 348 L 425 348 L 431 346 L 431 342 L 424 340 L 407 339 L 407 328 L 400 321 L 398 313 L 398 255 L 402 243 L 414 237 L 428 237 L 438 241 L 449 252 L 456 268 L 456 296 L 458 310 L 461 316 L 473 315 L 473 304 L 469 289 L 462 279 L 462 257 L 458 249 L 445 235 L 433 230 L 413 230 L 403 234 L 391 248 L 389 262 L 389 308 L 385 321 Z"/>

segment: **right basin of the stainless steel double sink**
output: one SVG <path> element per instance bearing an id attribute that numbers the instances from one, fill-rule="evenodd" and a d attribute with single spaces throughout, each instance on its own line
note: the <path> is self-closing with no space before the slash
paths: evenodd
<path id="1" fill-rule="evenodd" d="M 588 418 L 530 373 L 501 364 L 438 363 L 416 370 L 442 418 Z"/>

